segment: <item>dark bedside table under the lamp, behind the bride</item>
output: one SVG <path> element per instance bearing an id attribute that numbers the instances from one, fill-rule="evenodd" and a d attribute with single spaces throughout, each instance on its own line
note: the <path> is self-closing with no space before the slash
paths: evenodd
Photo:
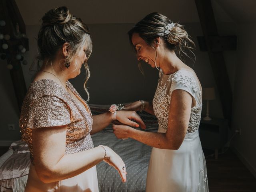
<path id="1" fill-rule="evenodd" d="M 212 118 L 210 121 L 201 120 L 199 136 L 203 148 L 213 149 L 215 159 L 218 158 L 218 150 L 222 149 L 228 141 L 228 120 Z"/>

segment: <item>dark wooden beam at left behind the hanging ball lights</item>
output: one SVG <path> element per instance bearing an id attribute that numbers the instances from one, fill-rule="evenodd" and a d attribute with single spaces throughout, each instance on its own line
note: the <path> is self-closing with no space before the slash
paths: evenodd
<path id="1" fill-rule="evenodd" d="M 0 20 L 4 20 L 6 22 L 6 25 L 1 27 L 1 33 L 9 34 L 11 37 L 10 40 L 0 41 L 0 53 L 10 55 L 7 62 L 13 66 L 13 68 L 10 70 L 10 75 L 12 78 L 12 84 L 18 102 L 18 107 L 21 110 L 22 102 L 26 95 L 27 89 L 22 72 L 22 66 L 20 64 L 20 60 L 16 59 L 16 54 L 18 54 L 19 44 L 23 44 L 26 50 L 28 50 L 28 39 L 15 38 L 15 34 L 17 33 L 15 28 L 16 24 L 18 23 L 21 33 L 26 33 L 26 26 L 14 0 L 0 0 Z M 8 44 L 8 50 L 2 49 L 2 43 Z"/>

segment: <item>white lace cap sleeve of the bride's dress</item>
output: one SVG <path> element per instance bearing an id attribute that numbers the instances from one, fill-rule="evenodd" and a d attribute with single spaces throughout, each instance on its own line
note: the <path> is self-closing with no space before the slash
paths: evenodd
<path id="1" fill-rule="evenodd" d="M 176 72 L 176 74 L 173 76 L 170 95 L 176 89 L 185 90 L 186 92 L 190 93 L 194 98 L 196 98 L 196 92 L 199 91 L 194 76 L 186 70 L 180 70 Z"/>

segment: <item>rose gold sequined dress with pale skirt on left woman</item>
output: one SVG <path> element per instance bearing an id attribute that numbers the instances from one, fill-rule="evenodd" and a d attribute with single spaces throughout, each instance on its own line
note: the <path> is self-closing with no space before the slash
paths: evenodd
<path id="1" fill-rule="evenodd" d="M 66 152 L 71 154 L 93 148 L 90 131 L 92 114 L 70 82 L 68 88 L 84 103 L 86 109 L 53 80 L 32 82 L 24 98 L 20 116 L 22 139 L 27 142 L 32 165 L 28 174 L 26 192 L 98 192 L 96 166 L 85 172 L 58 182 L 45 184 L 34 168 L 32 129 L 67 125 Z"/>

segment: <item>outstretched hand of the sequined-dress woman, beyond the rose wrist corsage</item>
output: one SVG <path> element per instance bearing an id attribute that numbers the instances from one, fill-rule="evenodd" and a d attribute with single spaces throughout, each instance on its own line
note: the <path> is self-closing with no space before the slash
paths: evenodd
<path id="1" fill-rule="evenodd" d="M 140 126 L 142 129 L 146 129 L 146 125 L 144 124 L 140 116 L 138 116 L 138 114 L 135 111 L 124 111 L 124 110 L 117 111 L 116 120 L 118 120 L 122 124 L 126 124 L 136 128 Z M 132 120 L 135 120 L 138 123 Z"/>

